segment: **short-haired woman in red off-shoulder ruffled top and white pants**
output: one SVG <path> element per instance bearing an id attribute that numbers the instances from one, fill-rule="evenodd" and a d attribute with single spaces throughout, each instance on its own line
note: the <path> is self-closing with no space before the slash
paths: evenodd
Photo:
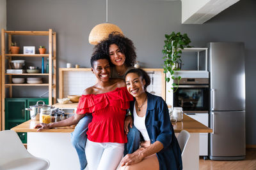
<path id="1" fill-rule="evenodd" d="M 133 97 L 127 91 L 124 80 L 109 78 L 111 71 L 108 55 L 95 53 L 91 58 L 91 66 L 98 82 L 84 90 L 76 115 L 60 122 L 38 124 L 35 128 L 41 131 L 74 125 L 86 113 L 92 113 L 85 148 L 88 167 L 93 170 L 116 169 L 124 153 L 124 143 L 127 143 L 124 119 Z"/>

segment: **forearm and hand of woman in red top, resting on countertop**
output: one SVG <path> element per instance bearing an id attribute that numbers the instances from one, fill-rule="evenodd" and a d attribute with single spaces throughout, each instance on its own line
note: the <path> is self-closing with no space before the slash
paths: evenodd
<path id="1" fill-rule="evenodd" d="M 84 117 L 85 114 L 79 115 L 75 114 L 73 117 L 67 118 L 65 120 L 61 120 L 60 122 L 54 122 L 51 124 L 37 124 L 34 128 L 38 128 L 38 132 L 42 131 L 43 129 L 51 129 L 53 127 L 65 127 L 68 125 L 76 125 L 81 118 Z"/>

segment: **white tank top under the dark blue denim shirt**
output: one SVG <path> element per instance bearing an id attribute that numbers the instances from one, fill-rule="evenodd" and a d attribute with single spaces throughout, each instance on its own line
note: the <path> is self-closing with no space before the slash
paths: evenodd
<path id="1" fill-rule="evenodd" d="M 150 138 L 148 136 L 148 132 L 147 132 L 146 125 L 145 125 L 146 115 L 144 117 L 139 117 L 137 115 L 135 103 L 134 103 L 134 108 L 133 108 L 133 117 L 134 117 L 134 120 L 133 120 L 134 126 L 141 132 L 144 140 L 149 141 Z"/>

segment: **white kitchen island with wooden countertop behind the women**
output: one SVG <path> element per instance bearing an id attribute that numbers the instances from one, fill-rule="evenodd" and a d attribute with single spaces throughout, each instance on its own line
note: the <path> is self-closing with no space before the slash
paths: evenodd
<path id="1" fill-rule="evenodd" d="M 74 126 L 58 127 L 37 132 L 34 129 L 38 121 L 28 120 L 13 127 L 16 132 L 28 132 L 28 151 L 36 157 L 48 159 L 51 164 L 49 170 L 79 169 L 79 160 L 76 150 L 70 142 L 70 134 Z M 199 169 L 199 133 L 212 132 L 212 129 L 184 115 L 182 122 L 173 123 L 175 133 L 183 129 L 190 133 L 186 152 L 183 155 L 183 169 Z"/>

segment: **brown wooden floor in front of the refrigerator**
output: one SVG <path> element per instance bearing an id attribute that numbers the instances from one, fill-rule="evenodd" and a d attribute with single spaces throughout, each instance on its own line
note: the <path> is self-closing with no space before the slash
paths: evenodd
<path id="1" fill-rule="evenodd" d="M 204 160 L 200 157 L 200 170 L 255 170 L 256 169 L 256 148 L 246 149 L 246 159 L 236 161 Z"/>

